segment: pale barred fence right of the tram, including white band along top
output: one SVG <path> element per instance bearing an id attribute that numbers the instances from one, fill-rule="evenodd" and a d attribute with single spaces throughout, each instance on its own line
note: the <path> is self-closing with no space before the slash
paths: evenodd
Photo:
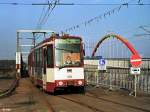
<path id="1" fill-rule="evenodd" d="M 134 89 L 134 76 L 130 74 L 129 60 L 115 59 L 113 61 L 113 59 L 107 59 L 106 71 L 97 70 L 96 61 L 85 62 L 85 79 L 88 84 L 109 88 Z M 137 90 L 150 93 L 150 59 L 143 59 L 141 74 L 137 78 Z"/>

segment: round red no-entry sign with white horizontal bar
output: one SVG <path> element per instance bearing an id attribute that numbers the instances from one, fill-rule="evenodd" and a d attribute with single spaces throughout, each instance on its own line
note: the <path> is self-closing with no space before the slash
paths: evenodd
<path id="1" fill-rule="evenodd" d="M 142 59 L 139 55 L 132 55 L 130 58 L 132 67 L 139 67 L 142 63 Z"/>

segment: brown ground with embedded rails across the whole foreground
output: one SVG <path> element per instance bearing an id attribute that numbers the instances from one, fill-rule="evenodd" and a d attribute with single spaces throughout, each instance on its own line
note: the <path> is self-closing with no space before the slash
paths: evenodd
<path id="1" fill-rule="evenodd" d="M 93 99 L 89 96 L 96 96 L 97 98 Z M 45 97 L 46 96 L 46 97 Z M 16 89 L 15 93 L 12 96 L 0 99 L 0 111 L 1 110 L 10 110 L 15 112 L 26 112 L 26 111 L 52 111 L 52 108 L 55 112 L 72 112 L 81 111 L 80 109 L 85 108 L 81 105 L 71 103 L 67 101 L 66 98 L 59 98 L 62 95 L 53 96 L 47 93 L 43 93 L 40 89 L 33 86 L 28 78 L 21 79 L 19 87 Z M 118 91 L 109 91 L 104 88 L 95 88 L 92 86 L 87 87 L 87 92 L 85 95 L 82 94 L 68 94 L 63 95 L 63 97 L 70 98 L 80 98 L 80 104 L 89 105 L 92 107 L 93 103 L 95 104 L 94 109 L 102 110 L 103 112 L 116 112 L 120 110 L 121 112 L 149 112 L 150 111 L 150 97 L 144 94 L 138 94 L 137 98 L 129 96 L 127 91 L 118 90 Z M 85 101 L 84 99 L 87 98 Z M 63 100 L 63 101 L 62 101 Z M 65 100 L 65 101 L 64 101 Z M 74 99 L 75 100 L 75 99 Z M 93 100 L 94 102 L 90 102 Z M 62 103 L 61 103 L 62 102 Z M 66 103 L 63 103 L 66 102 Z M 77 103 L 77 101 L 76 101 Z M 69 105 L 68 105 L 69 104 Z M 110 105 L 110 106 L 109 106 Z M 112 106 L 111 106 L 112 105 Z M 80 106 L 80 107 L 79 107 Z M 107 108 L 106 108 L 107 107 Z M 91 110 L 86 109 L 86 112 L 91 112 Z"/>

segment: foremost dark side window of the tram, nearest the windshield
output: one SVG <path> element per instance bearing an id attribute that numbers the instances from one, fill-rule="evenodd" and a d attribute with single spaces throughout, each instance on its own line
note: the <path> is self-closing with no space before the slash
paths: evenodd
<path id="1" fill-rule="evenodd" d="M 54 67 L 53 45 L 47 47 L 47 67 Z"/>

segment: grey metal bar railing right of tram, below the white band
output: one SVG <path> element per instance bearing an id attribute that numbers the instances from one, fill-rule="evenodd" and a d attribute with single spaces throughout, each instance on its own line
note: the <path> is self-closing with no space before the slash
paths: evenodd
<path id="1" fill-rule="evenodd" d="M 129 68 L 107 68 L 107 71 L 98 71 L 95 65 L 86 65 L 85 79 L 87 84 L 101 85 L 109 88 L 125 88 L 133 91 L 134 76 Z M 150 93 L 150 69 L 141 69 L 137 79 L 137 90 Z"/>

